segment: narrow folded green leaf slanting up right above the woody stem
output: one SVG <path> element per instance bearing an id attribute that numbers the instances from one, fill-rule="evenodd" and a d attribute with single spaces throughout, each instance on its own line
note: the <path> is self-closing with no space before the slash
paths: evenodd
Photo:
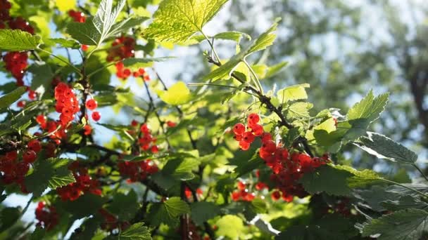
<path id="1" fill-rule="evenodd" d="M 275 30 L 277 29 L 277 25 L 277 22 L 272 24 L 269 29 L 263 32 L 263 34 L 260 34 L 258 39 L 252 41 L 252 43 L 247 48 L 245 48 L 243 51 L 240 51 L 237 55 L 234 55 L 224 65 L 221 65 L 213 72 L 210 72 L 208 75 L 204 76 L 203 80 L 206 81 L 209 79 L 213 79 L 213 81 L 215 81 L 225 77 L 229 78 L 230 74 L 232 74 L 239 62 L 245 60 L 248 55 L 256 51 L 263 50 L 267 48 L 267 46 L 272 45 L 273 40 L 275 40 L 275 34 L 273 34 L 273 32 L 275 32 Z"/>

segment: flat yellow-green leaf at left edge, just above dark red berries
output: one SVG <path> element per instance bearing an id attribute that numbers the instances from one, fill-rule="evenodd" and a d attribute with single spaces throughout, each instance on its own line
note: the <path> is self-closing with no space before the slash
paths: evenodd
<path id="1" fill-rule="evenodd" d="M 42 44 L 40 36 L 12 29 L 0 29 L 0 50 L 27 51 Z"/>

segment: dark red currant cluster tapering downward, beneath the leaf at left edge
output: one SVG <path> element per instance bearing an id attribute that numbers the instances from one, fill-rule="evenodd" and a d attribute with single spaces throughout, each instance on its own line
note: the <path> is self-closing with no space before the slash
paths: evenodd
<path id="1" fill-rule="evenodd" d="M 11 72 L 12 76 L 16 79 L 16 85 L 24 86 L 24 69 L 28 63 L 27 52 L 9 52 L 3 56 L 6 69 Z"/>

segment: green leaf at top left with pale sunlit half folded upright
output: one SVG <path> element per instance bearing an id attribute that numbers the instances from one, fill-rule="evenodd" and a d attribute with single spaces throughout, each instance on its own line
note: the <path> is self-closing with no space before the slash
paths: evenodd
<path id="1" fill-rule="evenodd" d="M 114 8 L 113 0 L 103 0 L 94 18 L 87 18 L 82 23 L 70 22 L 67 25 L 67 33 L 80 44 L 100 46 L 105 39 L 111 36 L 112 30 L 115 34 L 116 30 L 120 29 L 118 25 L 115 25 L 116 29 L 113 29 L 113 25 L 123 6 L 125 6 L 125 0 L 120 0 Z"/>

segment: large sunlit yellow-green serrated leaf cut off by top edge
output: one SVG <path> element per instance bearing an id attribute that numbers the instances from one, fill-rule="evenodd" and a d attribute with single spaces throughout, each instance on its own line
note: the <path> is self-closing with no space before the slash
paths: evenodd
<path id="1" fill-rule="evenodd" d="M 185 42 L 220 11 L 227 0 L 164 0 L 143 36 L 156 41 Z"/>

